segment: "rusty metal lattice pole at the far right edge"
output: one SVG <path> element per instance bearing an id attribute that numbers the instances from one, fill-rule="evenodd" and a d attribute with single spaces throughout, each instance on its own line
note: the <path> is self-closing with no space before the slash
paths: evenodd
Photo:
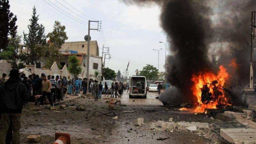
<path id="1" fill-rule="evenodd" d="M 253 68 L 252 68 L 252 45 L 254 39 L 254 29 L 255 29 L 255 12 L 252 12 L 251 19 L 251 59 L 250 59 L 250 89 L 253 89 Z"/>

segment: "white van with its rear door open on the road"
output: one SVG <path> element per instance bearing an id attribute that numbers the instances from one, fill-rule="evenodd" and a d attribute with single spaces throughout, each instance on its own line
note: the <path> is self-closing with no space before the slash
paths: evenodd
<path id="1" fill-rule="evenodd" d="M 129 86 L 129 98 L 132 98 L 132 96 L 147 98 L 147 80 L 145 76 L 130 76 Z"/>

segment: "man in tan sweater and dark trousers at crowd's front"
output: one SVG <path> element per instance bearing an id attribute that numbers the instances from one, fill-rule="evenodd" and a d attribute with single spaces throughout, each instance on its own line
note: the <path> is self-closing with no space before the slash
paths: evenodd
<path id="1" fill-rule="evenodd" d="M 51 84 L 50 80 L 46 79 L 46 76 L 44 75 L 43 82 L 42 82 L 42 97 L 40 97 L 41 105 L 44 105 L 44 99 L 45 99 L 45 96 L 47 96 L 47 98 L 50 102 L 50 105 L 53 106 L 51 88 L 52 88 L 52 84 Z"/>

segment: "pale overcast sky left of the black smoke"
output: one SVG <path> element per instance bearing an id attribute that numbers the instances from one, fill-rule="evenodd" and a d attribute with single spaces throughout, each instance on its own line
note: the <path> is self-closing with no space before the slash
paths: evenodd
<path id="1" fill-rule="evenodd" d="M 119 0 L 10 0 L 10 5 L 11 12 L 17 15 L 19 35 L 23 31 L 28 33 L 27 26 L 34 5 L 45 33 L 51 32 L 54 21 L 58 20 L 66 27 L 67 42 L 84 41 L 84 36 L 88 34 L 88 20 L 100 20 L 101 31 L 91 30 L 90 35 L 92 40 L 98 41 L 100 56 L 103 44 L 104 47 L 110 47 L 111 59 L 106 59 L 106 67 L 116 72 L 120 69 L 123 74 L 130 60 L 130 76 L 135 75 L 136 69 L 142 70 L 146 64 L 157 68 L 158 53 L 152 49 L 163 48 L 159 54 L 159 71 L 164 71 L 165 45 L 159 41 L 165 42 L 166 34 L 160 27 L 160 8 L 157 5 L 138 7 L 126 5 Z"/>

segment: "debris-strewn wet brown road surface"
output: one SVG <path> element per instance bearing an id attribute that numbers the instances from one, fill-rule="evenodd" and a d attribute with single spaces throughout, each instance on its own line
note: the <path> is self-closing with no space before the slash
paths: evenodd
<path id="1" fill-rule="evenodd" d="M 156 100 L 156 92 L 148 92 L 148 98 L 129 99 L 125 92 L 121 98 L 121 104 L 116 105 L 113 112 L 118 116 L 113 120 L 113 116 L 99 116 L 101 113 L 108 113 L 108 103 L 102 96 L 102 99 L 94 101 L 89 98 L 79 98 L 64 103 L 67 109 L 54 112 L 49 109 L 42 111 L 31 111 L 30 108 L 24 108 L 21 122 L 21 141 L 26 143 L 28 135 L 39 134 L 41 140 L 39 143 L 53 143 L 54 133 L 63 132 L 71 135 L 72 144 L 85 143 L 173 143 L 173 144 L 206 144 L 211 140 L 205 139 L 192 132 L 178 131 L 159 131 L 150 130 L 150 123 L 158 120 L 168 121 L 173 118 L 174 122 L 207 122 L 214 123 L 216 119 L 205 117 L 205 114 L 182 112 L 173 107 L 164 107 L 163 104 Z M 86 111 L 69 111 L 68 106 L 84 105 Z M 132 111 L 125 113 L 124 111 Z M 111 115 L 111 114 L 109 114 Z M 134 119 L 144 118 L 144 123 L 140 127 L 134 125 Z M 168 138 L 166 140 L 156 140 L 158 138 Z"/>

